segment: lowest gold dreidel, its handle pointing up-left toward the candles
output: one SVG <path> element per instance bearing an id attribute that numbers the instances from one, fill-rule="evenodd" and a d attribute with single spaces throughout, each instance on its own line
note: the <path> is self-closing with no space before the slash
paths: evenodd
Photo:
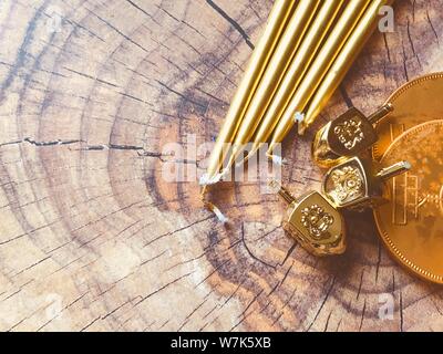
<path id="1" fill-rule="evenodd" d="M 343 217 L 317 191 L 296 199 L 277 181 L 270 183 L 289 205 L 282 227 L 308 252 L 315 256 L 341 254 L 346 250 Z"/>

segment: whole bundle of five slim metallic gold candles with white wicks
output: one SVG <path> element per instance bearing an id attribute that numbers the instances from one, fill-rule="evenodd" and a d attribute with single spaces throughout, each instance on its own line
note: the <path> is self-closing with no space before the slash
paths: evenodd
<path id="1" fill-rule="evenodd" d="M 203 192 L 238 159 L 308 128 L 339 86 L 390 0 L 276 0 L 212 152 Z M 246 156 L 244 147 L 251 143 Z"/>

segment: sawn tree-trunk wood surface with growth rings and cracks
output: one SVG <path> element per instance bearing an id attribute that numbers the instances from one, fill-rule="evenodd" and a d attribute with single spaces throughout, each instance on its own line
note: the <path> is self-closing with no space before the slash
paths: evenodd
<path id="1" fill-rule="evenodd" d="M 0 330 L 443 330 L 442 288 L 391 261 L 370 214 L 351 216 L 344 256 L 317 259 L 258 184 L 213 192 L 223 227 L 195 183 L 163 180 L 164 144 L 217 135 L 270 7 L 0 2 Z M 442 13 L 396 1 L 395 32 L 373 35 L 317 127 L 443 70 Z M 319 186 L 310 138 L 284 146 L 295 192 Z"/>

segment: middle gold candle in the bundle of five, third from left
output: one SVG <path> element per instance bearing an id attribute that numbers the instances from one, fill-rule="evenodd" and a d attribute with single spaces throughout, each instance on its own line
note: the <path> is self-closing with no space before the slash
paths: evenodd
<path id="1" fill-rule="evenodd" d="M 310 25 L 296 56 L 293 58 L 285 77 L 269 105 L 257 132 L 255 133 L 251 156 L 266 143 L 287 107 L 290 97 L 295 94 L 301 79 L 307 72 L 309 64 L 317 54 L 320 44 L 331 28 L 344 0 L 324 0 L 316 19 Z"/>

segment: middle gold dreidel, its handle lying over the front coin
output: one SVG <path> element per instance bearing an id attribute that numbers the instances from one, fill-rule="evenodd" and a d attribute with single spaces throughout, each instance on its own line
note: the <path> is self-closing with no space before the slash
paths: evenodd
<path id="1" fill-rule="evenodd" d="M 363 209 L 383 204 L 383 181 L 411 169 L 408 162 L 387 168 L 369 159 L 351 157 L 329 169 L 322 192 L 338 209 Z"/>

